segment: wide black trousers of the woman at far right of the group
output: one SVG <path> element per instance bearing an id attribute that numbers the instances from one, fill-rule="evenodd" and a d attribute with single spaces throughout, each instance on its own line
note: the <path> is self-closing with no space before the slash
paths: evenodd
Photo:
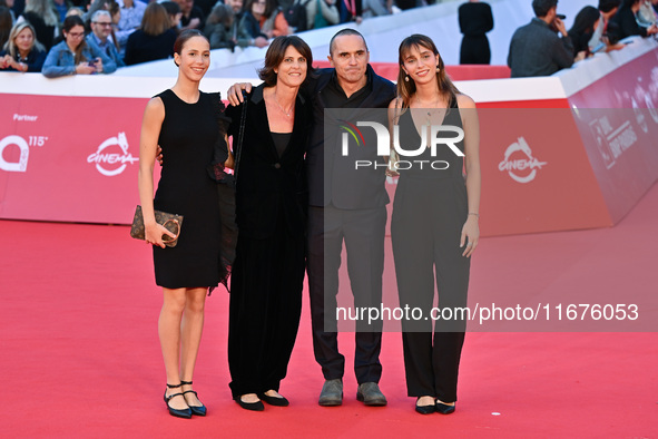
<path id="1" fill-rule="evenodd" d="M 422 310 L 423 319 L 402 321 L 406 390 L 456 401 L 464 342 L 470 258 L 462 256 L 461 228 L 468 203 L 463 178 L 401 176 L 393 205 L 391 238 L 400 306 Z M 436 315 L 431 315 L 438 292 Z M 429 318 L 429 319 L 424 319 Z"/>

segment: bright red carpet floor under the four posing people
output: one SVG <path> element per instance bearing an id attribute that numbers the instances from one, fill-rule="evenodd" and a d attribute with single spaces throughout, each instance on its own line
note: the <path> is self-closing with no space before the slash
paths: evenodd
<path id="1" fill-rule="evenodd" d="M 657 228 L 654 186 L 613 228 L 482 240 L 471 293 L 655 294 Z M 125 226 L 0 221 L 0 248 L 2 437 L 658 437 L 656 332 L 469 333 L 458 411 L 421 417 L 405 397 L 397 333 L 384 334 L 382 352 L 389 407 L 355 401 L 351 368 L 343 407 L 318 407 L 307 303 L 282 386 L 291 407 L 246 412 L 228 391 L 219 290 L 195 375 L 208 417 L 175 419 L 161 400 L 161 297 L 147 245 Z M 341 336 L 347 364 L 351 339 Z"/>

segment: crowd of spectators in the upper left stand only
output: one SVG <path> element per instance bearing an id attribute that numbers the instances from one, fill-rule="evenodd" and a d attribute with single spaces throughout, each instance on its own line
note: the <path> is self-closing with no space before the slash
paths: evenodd
<path id="1" fill-rule="evenodd" d="M 108 74 L 171 57 L 185 29 L 203 31 L 213 49 L 265 47 L 281 35 L 441 1 L 0 0 L 0 70 L 41 71 L 47 57 L 48 77 Z"/>

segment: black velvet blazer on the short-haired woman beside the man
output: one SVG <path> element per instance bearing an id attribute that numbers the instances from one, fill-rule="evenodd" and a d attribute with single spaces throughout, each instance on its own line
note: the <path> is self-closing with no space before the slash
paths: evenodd
<path id="1" fill-rule="evenodd" d="M 278 157 L 269 131 L 263 89 L 263 85 L 256 87 L 246 101 L 247 116 L 236 188 L 239 234 L 252 238 L 271 237 L 276 232 L 279 214 L 291 235 L 303 234 L 306 227 L 302 202 L 305 191 L 303 166 L 311 110 L 306 106 L 307 100 L 297 95 L 293 134 L 287 148 Z M 232 119 L 228 134 L 234 139 L 234 154 L 244 105 L 226 109 L 226 116 Z"/>

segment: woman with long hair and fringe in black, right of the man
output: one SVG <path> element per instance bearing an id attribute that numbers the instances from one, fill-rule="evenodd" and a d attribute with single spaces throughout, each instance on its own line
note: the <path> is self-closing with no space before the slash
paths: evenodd
<path id="1" fill-rule="evenodd" d="M 400 306 L 418 308 L 428 318 L 402 321 L 407 394 L 418 398 L 418 412 L 448 414 L 456 401 L 465 331 L 465 321 L 449 313 L 467 306 L 469 257 L 480 236 L 478 117 L 473 100 L 451 82 L 425 36 L 413 35 L 400 46 L 397 94 L 390 119 L 400 126 L 404 150 L 419 149 L 420 135 L 431 146 L 431 126 L 446 129 L 439 138 L 455 138 L 419 156 L 397 152 L 390 164 L 400 174 L 391 222 Z M 434 283 L 439 311 L 446 312 L 432 322 Z"/>

